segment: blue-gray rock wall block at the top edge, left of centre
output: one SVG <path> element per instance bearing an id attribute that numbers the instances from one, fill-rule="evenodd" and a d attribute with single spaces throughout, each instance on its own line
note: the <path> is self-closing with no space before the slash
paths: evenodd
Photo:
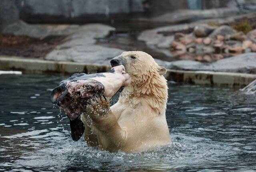
<path id="1" fill-rule="evenodd" d="M 78 17 L 85 14 L 116 14 L 142 12 L 142 0 L 24 0 L 21 12 L 30 15 L 47 14 L 52 16 Z M 113 3 L 114 2 L 114 3 Z"/>

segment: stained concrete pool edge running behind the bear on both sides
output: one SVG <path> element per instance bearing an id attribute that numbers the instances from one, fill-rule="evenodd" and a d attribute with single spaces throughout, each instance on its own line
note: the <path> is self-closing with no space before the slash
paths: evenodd
<path id="1" fill-rule="evenodd" d="M 18 70 L 26 74 L 96 73 L 105 72 L 109 69 L 110 65 L 0 56 L 0 70 Z M 244 87 L 256 79 L 256 74 L 167 69 L 165 77 L 168 81 L 176 81 L 179 83 Z"/>

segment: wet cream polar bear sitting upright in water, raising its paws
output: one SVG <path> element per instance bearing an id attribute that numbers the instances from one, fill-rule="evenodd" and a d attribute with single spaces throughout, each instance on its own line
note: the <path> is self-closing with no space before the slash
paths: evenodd
<path id="1" fill-rule="evenodd" d="M 111 107 L 102 95 L 89 101 L 81 117 L 88 146 L 112 152 L 141 152 L 170 144 L 165 116 L 166 69 L 143 51 L 125 51 L 110 63 L 112 67 L 124 65 L 132 81 Z"/>

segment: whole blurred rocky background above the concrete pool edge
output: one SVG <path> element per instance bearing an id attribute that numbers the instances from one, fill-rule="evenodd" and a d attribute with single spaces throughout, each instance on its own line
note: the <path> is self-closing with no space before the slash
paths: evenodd
<path id="1" fill-rule="evenodd" d="M 256 0 L 0 1 L 0 55 L 44 60 L 109 65 L 140 50 L 169 69 L 254 73 L 226 69 L 244 56 L 213 62 L 252 64 L 255 28 Z"/>

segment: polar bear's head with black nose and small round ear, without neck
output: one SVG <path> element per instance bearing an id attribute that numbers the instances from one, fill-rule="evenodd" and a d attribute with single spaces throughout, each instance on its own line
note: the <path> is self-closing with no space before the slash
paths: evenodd
<path id="1" fill-rule="evenodd" d="M 143 51 L 124 51 L 121 55 L 114 57 L 111 66 L 124 65 L 126 73 L 131 77 L 140 78 L 157 72 L 159 75 L 166 73 L 164 67 L 159 66 L 151 55 Z"/>

